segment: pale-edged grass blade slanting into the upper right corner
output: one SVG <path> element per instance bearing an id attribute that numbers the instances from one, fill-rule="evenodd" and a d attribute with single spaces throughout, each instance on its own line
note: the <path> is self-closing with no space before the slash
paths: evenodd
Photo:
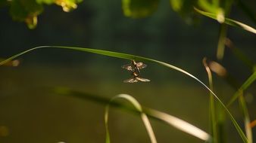
<path id="1" fill-rule="evenodd" d="M 208 13 L 208 12 L 205 12 L 205 11 L 201 11 L 201 10 L 199 10 L 198 8 L 194 8 L 194 9 L 195 9 L 195 11 L 197 11 L 199 14 L 202 14 L 202 15 L 204 15 L 204 16 L 206 16 L 206 17 L 210 17 L 210 18 L 212 18 L 212 19 L 214 19 L 214 20 L 217 20 L 217 15 L 216 15 L 216 14 L 211 14 L 211 13 Z M 246 31 L 248 31 L 248 32 L 252 32 L 252 33 L 256 34 L 256 29 L 252 28 L 251 26 L 247 26 L 246 24 L 241 23 L 241 22 L 239 22 L 239 21 L 231 20 L 231 19 L 229 19 L 229 18 L 225 18 L 224 23 L 226 23 L 226 24 L 228 24 L 228 25 L 230 25 L 230 26 L 239 27 L 239 28 L 244 29 L 244 30 L 246 30 Z"/>

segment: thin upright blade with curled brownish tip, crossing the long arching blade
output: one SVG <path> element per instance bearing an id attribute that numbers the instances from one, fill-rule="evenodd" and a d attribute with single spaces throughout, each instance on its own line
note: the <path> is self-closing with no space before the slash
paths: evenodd
<path id="1" fill-rule="evenodd" d="M 208 66 L 207 59 L 204 57 L 203 59 L 203 65 L 208 75 L 208 82 L 210 89 L 214 91 L 214 84 L 212 80 L 211 75 L 211 69 Z M 214 95 L 210 93 L 210 111 L 209 111 L 209 117 L 210 117 L 210 125 L 211 125 L 211 136 L 213 138 L 213 142 L 217 143 L 218 137 L 217 137 L 217 120 L 216 120 L 216 111 L 215 111 L 215 103 L 214 103 Z"/>

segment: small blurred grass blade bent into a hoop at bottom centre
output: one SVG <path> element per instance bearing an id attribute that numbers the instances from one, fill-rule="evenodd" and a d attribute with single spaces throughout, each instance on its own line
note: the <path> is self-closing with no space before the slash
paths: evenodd
<path id="1" fill-rule="evenodd" d="M 133 104 L 133 106 L 136 108 L 137 111 L 140 112 L 140 115 L 142 117 L 142 121 L 145 125 L 145 128 L 147 129 L 149 138 L 151 140 L 151 143 L 157 143 L 157 139 L 155 138 L 155 133 L 151 127 L 151 124 L 148 120 L 147 115 L 142 111 L 142 106 L 139 104 L 139 102 L 133 98 L 133 96 L 127 95 L 127 94 L 120 94 L 117 96 L 114 96 L 114 98 L 111 99 L 110 102 L 113 102 L 116 99 L 126 99 L 127 101 L 129 101 L 130 103 Z M 108 131 L 108 112 L 109 112 L 109 105 L 110 103 L 107 105 L 106 110 L 105 110 L 105 127 L 106 127 L 106 143 L 110 143 L 110 135 L 109 135 L 109 131 Z"/>

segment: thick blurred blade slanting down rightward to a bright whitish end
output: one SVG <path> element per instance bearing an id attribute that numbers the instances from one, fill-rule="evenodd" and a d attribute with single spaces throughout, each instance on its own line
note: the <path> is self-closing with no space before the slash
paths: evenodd
<path id="1" fill-rule="evenodd" d="M 125 111 L 130 111 L 133 114 L 137 114 L 137 115 L 141 114 L 140 111 L 138 111 L 134 108 L 130 108 L 127 105 L 123 105 L 120 102 L 115 102 L 115 101 L 109 102 L 111 99 L 105 98 L 105 96 L 81 93 L 81 92 L 70 90 L 68 88 L 63 88 L 63 87 L 55 88 L 54 92 L 59 95 L 73 96 L 76 98 L 89 100 L 89 101 L 96 102 L 101 105 L 109 104 L 109 105 L 111 105 L 111 107 L 120 108 Z M 196 138 L 200 138 L 201 140 L 204 140 L 204 141 L 209 141 L 211 139 L 211 135 L 208 135 L 207 132 L 204 132 L 203 130 L 199 129 L 198 127 L 193 126 L 192 124 L 190 124 L 184 120 L 181 120 L 178 117 L 174 117 L 170 114 L 167 114 L 167 113 L 164 113 L 161 111 L 157 111 L 157 110 L 154 110 L 151 108 L 146 108 L 143 106 L 142 106 L 142 110 L 146 115 L 148 115 L 148 117 L 151 117 L 151 119 L 155 119 L 155 120 L 167 123 L 168 125 L 173 126 L 174 128 L 179 129 L 183 132 L 186 132 L 190 135 L 193 135 Z"/>

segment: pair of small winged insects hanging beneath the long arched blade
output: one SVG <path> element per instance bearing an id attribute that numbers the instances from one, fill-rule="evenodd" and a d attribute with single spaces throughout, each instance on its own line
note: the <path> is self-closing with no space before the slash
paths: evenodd
<path id="1" fill-rule="evenodd" d="M 145 65 L 143 62 L 135 62 L 135 60 L 132 60 L 130 64 L 123 65 L 122 68 L 125 68 L 128 71 L 132 71 L 132 78 L 129 78 L 127 80 L 124 80 L 124 83 L 136 83 L 139 81 L 142 82 L 148 82 L 150 80 L 146 78 L 140 78 L 140 69 L 145 68 L 147 65 Z"/>

